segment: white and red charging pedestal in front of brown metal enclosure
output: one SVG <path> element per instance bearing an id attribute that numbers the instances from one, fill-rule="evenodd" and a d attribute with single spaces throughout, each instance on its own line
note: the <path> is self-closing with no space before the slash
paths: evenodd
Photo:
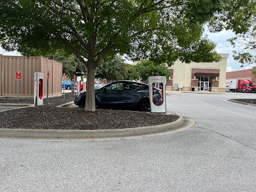
<path id="1" fill-rule="evenodd" d="M 34 105 L 43 105 L 43 73 L 35 73 Z"/>

